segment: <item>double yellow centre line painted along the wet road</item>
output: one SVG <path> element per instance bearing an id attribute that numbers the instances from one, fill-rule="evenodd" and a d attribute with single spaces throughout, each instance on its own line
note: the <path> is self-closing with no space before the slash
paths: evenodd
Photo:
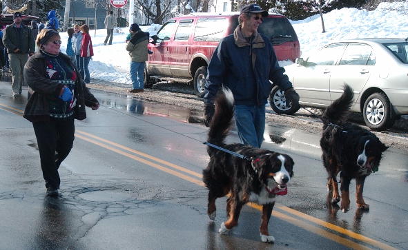
<path id="1" fill-rule="evenodd" d="M 22 115 L 22 110 L 15 109 L 14 107 L 10 107 L 10 106 L 8 106 L 8 105 L 3 105 L 3 104 L 1 104 L 1 103 L 0 103 L 0 105 L 3 106 L 3 107 L 6 107 L 6 108 L 8 108 L 8 109 L 11 109 L 11 110 L 6 110 L 6 109 L 1 109 L 1 108 L 0 108 L 1 110 L 6 110 L 6 111 L 12 112 L 12 113 L 14 113 L 14 114 L 19 114 L 20 116 Z M 15 110 L 15 112 L 14 112 L 13 110 Z M 79 133 L 79 134 L 78 134 L 78 133 Z M 82 136 L 81 134 L 83 134 L 84 136 Z M 77 130 L 77 133 L 75 133 L 75 136 L 77 136 L 78 138 L 81 138 L 81 139 L 83 139 L 83 140 L 86 140 L 86 141 L 88 141 L 89 143 L 93 143 L 93 144 L 95 144 L 95 145 L 98 145 L 99 147 L 104 147 L 104 148 L 109 149 L 109 150 L 111 150 L 111 151 L 113 151 L 113 152 L 116 152 L 117 154 L 121 154 L 121 155 L 126 156 L 126 157 L 128 157 L 128 158 L 132 158 L 133 160 L 137 160 L 137 161 L 139 161 L 139 162 L 141 162 L 141 163 L 144 163 L 144 164 L 146 164 L 146 165 L 149 165 L 150 167 L 155 167 L 156 169 L 165 171 L 165 172 L 168 173 L 168 174 L 172 174 L 173 176 L 177 176 L 177 177 L 182 178 L 182 179 L 184 179 L 184 180 L 187 180 L 187 181 L 189 181 L 189 182 L 191 182 L 191 183 L 195 183 L 195 184 L 197 184 L 197 185 L 199 185 L 199 186 L 202 186 L 202 187 L 204 186 L 204 183 L 202 183 L 202 180 L 197 180 L 197 179 L 192 178 L 192 177 L 190 177 L 190 176 L 186 176 L 185 174 L 181 174 L 181 173 L 179 173 L 179 172 L 177 172 L 177 171 L 174 171 L 173 169 L 168 169 L 167 167 L 163 167 L 163 166 L 158 165 L 158 164 L 156 164 L 156 163 L 152 163 L 152 162 L 150 162 L 150 161 L 148 161 L 148 160 L 145 160 L 144 158 L 140 158 L 140 157 L 135 156 L 135 155 L 133 155 L 133 154 L 128 154 L 128 153 L 126 153 L 126 152 L 122 152 L 122 151 L 119 150 L 119 149 L 116 149 L 116 148 L 114 148 L 114 147 L 110 147 L 109 145 L 105 145 L 105 144 L 103 144 L 103 143 L 100 143 L 100 142 L 97 141 L 97 140 L 103 141 L 104 143 L 108 143 L 108 144 L 110 144 L 110 145 L 114 145 L 115 147 L 119 147 L 119 148 L 125 149 L 125 150 L 127 150 L 128 152 L 132 152 L 132 153 L 134 153 L 134 154 L 139 154 L 139 156 L 144 156 L 145 158 L 149 158 L 150 160 L 155 160 L 155 161 L 157 161 L 158 163 L 162 163 L 162 164 L 164 164 L 164 165 L 168 165 L 169 167 L 173 167 L 173 168 L 175 168 L 175 169 L 178 169 L 179 171 L 184 171 L 184 172 L 186 172 L 186 173 L 188 173 L 188 174 L 191 174 L 191 175 L 193 175 L 193 176 L 197 176 L 197 177 L 202 178 L 202 175 L 201 175 L 201 174 L 197 174 L 195 171 L 191 171 L 191 170 L 186 169 L 186 168 L 184 168 L 184 167 L 180 167 L 180 166 L 175 165 L 175 164 L 173 164 L 173 163 L 169 163 L 169 162 L 167 162 L 166 160 L 162 160 L 162 159 L 159 159 L 159 158 L 155 158 L 154 156 L 150 156 L 150 155 L 148 155 L 148 154 L 139 152 L 139 151 L 137 151 L 137 150 L 135 150 L 135 149 L 131 149 L 131 148 L 129 148 L 129 147 L 125 147 L 125 146 L 123 146 L 123 145 L 119 145 L 119 144 L 114 143 L 114 142 L 112 142 L 112 141 L 110 141 L 110 140 L 106 140 L 106 139 L 104 139 L 104 138 L 100 138 L 100 137 L 95 136 L 95 135 L 93 135 L 93 134 L 88 134 L 88 133 L 86 133 L 86 132 L 81 132 L 81 131 L 78 131 L 78 130 Z M 90 137 L 95 138 L 95 139 L 97 139 L 97 140 L 93 140 L 93 139 L 87 138 L 86 136 L 90 136 Z M 255 209 L 258 209 L 258 210 L 262 211 L 262 206 L 260 206 L 260 205 L 256 205 L 256 204 L 254 204 L 254 203 L 249 203 L 249 206 L 251 206 L 251 207 L 253 207 L 253 208 L 255 208 Z M 371 239 L 371 238 L 368 238 L 368 237 L 366 237 L 366 236 L 362 236 L 362 235 L 359 234 L 359 233 L 354 233 L 353 231 L 349 231 L 349 230 L 347 230 L 347 229 L 343 229 L 342 227 L 338 227 L 338 226 L 333 225 L 333 224 L 331 224 L 331 223 L 329 223 L 329 222 L 324 222 L 324 220 L 320 220 L 320 219 L 318 219 L 318 218 L 314 218 L 313 216 L 309 216 L 309 215 L 307 215 L 307 214 L 305 214 L 305 213 L 302 213 L 302 212 L 300 212 L 300 211 L 297 211 L 297 210 L 295 210 L 295 209 L 291 209 L 291 208 L 289 208 L 289 207 L 285 207 L 285 206 L 282 206 L 282 205 L 278 205 L 277 208 L 278 208 L 278 209 L 282 209 L 283 211 L 286 211 L 286 212 L 288 212 L 288 213 L 291 213 L 291 214 L 293 214 L 293 215 L 295 215 L 295 216 L 298 216 L 298 217 L 300 217 L 300 218 L 303 218 L 304 220 L 308 220 L 309 222 L 313 222 L 313 223 L 315 223 L 315 224 L 317 224 L 317 225 L 320 225 L 320 226 L 322 226 L 322 227 L 326 227 L 326 228 L 328 228 L 328 229 L 331 229 L 331 230 L 333 230 L 333 231 L 337 231 L 338 233 L 342 233 L 342 234 L 344 234 L 344 235 L 346 235 L 346 236 L 349 236 L 349 237 L 351 237 L 351 238 L 355 238 L 356 240 L 360 240 L 360 241 L 362 241 L 362 242 L 367 242 L 367 243 L 369 243 L 369 244 L 371 244 L 371 245 L 373 245 L 373 246 L 375 246 L 375 247 L 379 247 L 379 248 L 381 248 L 381 249 L 395 249 L 395 248 L 393 248 L 393 247 L 391 247 L 391 246 L 389 246 L 389 245 L 387 245 L 387 244 L 383 244 L 383 243 L 381 243 L 381 242 L 378 242 L 378 241 L 373 240 L 373 239 Z M 273 216 L 275 216 L 275 217 L 277 217 L 277 218 L 281 218 L 281 219 L 286 220 L 286 221 L 290 221 L 293 225 L 297 225 L 298 227 L 301 227 L 301 228 L 306 229 L 306 230 L 308 230 L 308 231 L 312 231 L 313 233 L 316 233 L 316 234 L 318 234 L 318 235 L 320 235 L 320 236 L 322 236 L 322 237 L 324 237 L 324 238 L 328 238 L 329 240 L 333 240 L 334 242 L 338 242 L 339 244 L 342 244 L 342 245 L 344 245 L 344 246 L 346 246 L 346 247 L 351 247 L 351 248 L 353 248 L 353 249 L 369 249 L 369 248 L 367 248 L 367 247 L 365 247 L 365 246 L 363 246 L 363 245 L 361 245 L 361 244 L 358 244 L 358 243 L 353 242 L 353 241 L 351 241 L 351 240 L 348 240 L 348 239 L 346 239 L 346 238 L 342 238 L 341 236 L 337 236 L 336 234 L 330 233 L 329 231 L 326 231 L 326 230 L 324 230 L 324 229 L 321 229 L 320 227 L 315 227 L 315 226 L 313 226 L 313 225 L 309 225 L 307 222 L 302 222 L 302 220 L 298 220 L 298 219 L 295 219 L 295 218 L 293 218 L 293 217 L 291 217 L 291 216 L 287 216 L 286 214 L 280 213 L 279 211 L 273 211 Z"/>

